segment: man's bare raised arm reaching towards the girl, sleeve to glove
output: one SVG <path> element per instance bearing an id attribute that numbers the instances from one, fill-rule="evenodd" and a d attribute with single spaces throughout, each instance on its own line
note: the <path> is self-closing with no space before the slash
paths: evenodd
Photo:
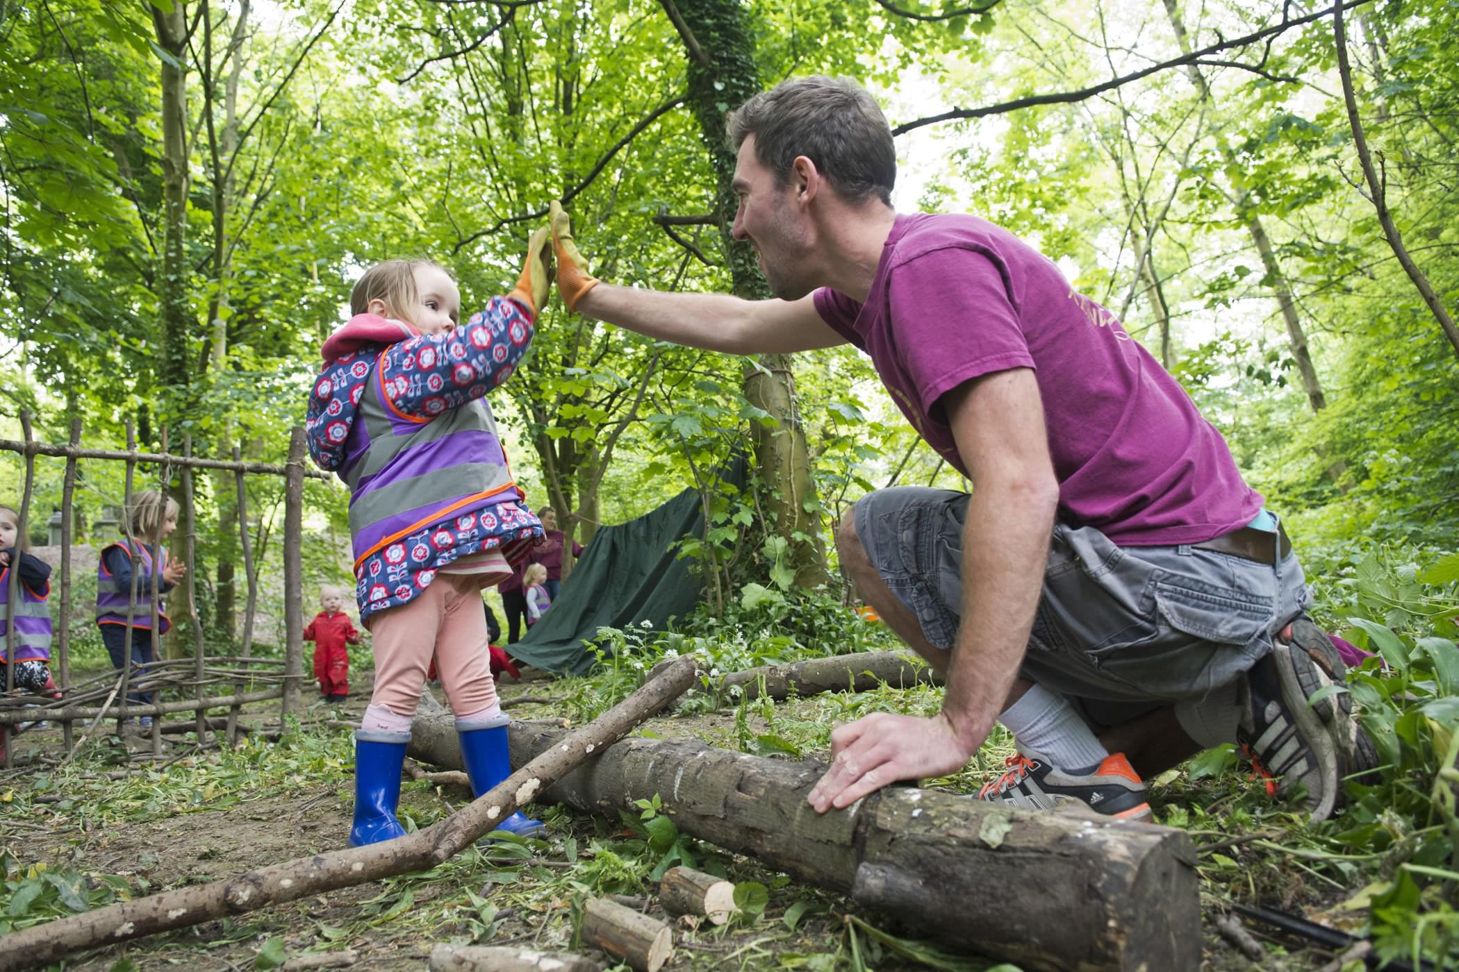
<path id="1" fill-rule="evenodd" d="M 741 300 L 600 283 L 582 294 L 578 310 L 651 338 L 730 354 L 810 351 L 846 342 L 821 321 L 811 296 Z"/>

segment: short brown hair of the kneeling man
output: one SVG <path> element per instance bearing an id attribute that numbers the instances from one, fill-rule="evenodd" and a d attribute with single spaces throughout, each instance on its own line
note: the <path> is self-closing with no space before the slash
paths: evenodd
<path id="1" fill-rule="evenodd" d="M 897 150 L 891 127 L 871 93 L 849 77 L 813 74 L 781 82 L 725 118 L 734 152 L 754 136 L 754 156 L 779 185 L 805 156 L 851 203 L 872 195 L 891 205 Z"/>

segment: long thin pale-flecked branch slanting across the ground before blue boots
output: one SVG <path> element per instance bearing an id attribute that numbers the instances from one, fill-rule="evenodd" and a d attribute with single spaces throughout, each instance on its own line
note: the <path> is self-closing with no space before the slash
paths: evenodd
<path id="1" fill-rule="evenodd" d="M 544 787 L 588 756 L 603 753 L 641 721 L 683 695 L 693 678 L 693 663 L 684 659 L 683 665 L 648 681 L 582 729 L 559 733 L 550 746 L 519 762 L 516 772 L 474 803 L 423 831 L 369 847 L 271 864 L 210 885 L 177 887 L 13 931 L 0 937 L 0 972 L 48 965 L 83 949 L 185 928 L 382 877 L 429 870 L 470 847 L 516 807 L 537 797 Z M 460 765 L 460 748 L 457 761 Z"/>

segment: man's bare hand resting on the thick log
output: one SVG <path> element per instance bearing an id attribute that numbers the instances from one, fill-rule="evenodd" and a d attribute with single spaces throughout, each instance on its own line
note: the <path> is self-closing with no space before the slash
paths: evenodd
<path id="1" fill-rule="evenodd" d="M 975 748 L 976 749 L 976 748 Z M 830 769 L 810 793 L 817 813 L 845 809 L 897 780 L 957 772 L 973 753 L 945 716 L 875 713 L 830 734 Z"/>

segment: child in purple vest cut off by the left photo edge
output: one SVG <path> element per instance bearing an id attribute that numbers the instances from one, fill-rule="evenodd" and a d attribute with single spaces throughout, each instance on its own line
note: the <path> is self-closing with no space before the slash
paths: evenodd
<path id="1" fill-rule="evenodd" d="M 10 603 L 10 571 L 19 574 L 16 603 Z M 25 551 L 20 536 L 20 514 L 0 506 L 0 692 L 6 689 L 9 666 L 15 672 L 15 688 L 50 695 L 51 682 L 51 612 L 45 599 L 51 593 L 51 565 Z M 10 619 L 15 619 L 15 657 L 7 654 Z M 4 753 L 0 742 L 0 755 Z"/>

